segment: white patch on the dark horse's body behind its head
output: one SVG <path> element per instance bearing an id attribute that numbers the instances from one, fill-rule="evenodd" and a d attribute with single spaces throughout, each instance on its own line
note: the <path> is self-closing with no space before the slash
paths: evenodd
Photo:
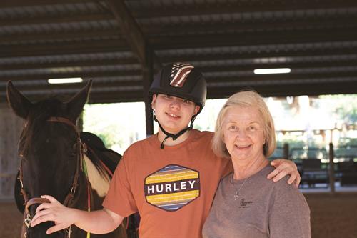
<path id="1" fill-rule="evenodd" d="M 99 197 L 105 197 L 109 189 L 110 177 L 108 174 L 101 174 L 96 166 L 91 162 L 86 155 L 84 155 L 84 162 L 86 164 L 87 174 L 91 187 L 95 190 Z"/>

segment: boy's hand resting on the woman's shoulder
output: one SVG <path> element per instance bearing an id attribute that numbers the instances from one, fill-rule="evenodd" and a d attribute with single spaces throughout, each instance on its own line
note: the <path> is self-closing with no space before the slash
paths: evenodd
<path id="1" fill-rule="evenodd" d="M 273 182 L 278 182 L 286 175 L 290 175 L 288 184 L 292 184 L 295 181 L 296 187 L 300 184 L 300 174 L 298 173 L 298 167 L 296 164 L 288 159 L 274 159 L 271 162 L 271 166 L 275 167 L 273 172 L 268 174 L 268 179 L 273 179 Z"/>

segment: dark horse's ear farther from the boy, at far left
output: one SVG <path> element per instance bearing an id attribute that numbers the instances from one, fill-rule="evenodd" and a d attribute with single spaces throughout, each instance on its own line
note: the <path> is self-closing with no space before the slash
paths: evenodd
<path id="1" fill-rule="evenodd" d="M 14 110 L 15 114 L 26 119 L 32 106 L 31 101 L 29 101 L 26 96 L 22 95 L 11 81 L 7 82 L 6 96 L 9 106 Z"/>

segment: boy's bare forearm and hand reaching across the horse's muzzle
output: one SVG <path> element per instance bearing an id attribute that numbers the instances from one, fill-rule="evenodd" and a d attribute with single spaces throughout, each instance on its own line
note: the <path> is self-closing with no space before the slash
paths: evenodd
<path id="1" fill-rule="evenodd" d="M 47 234 L 65 229 L 71 226 L 71 224 L 84 229 L 86 232 L 105 234 L 116 229 L 124 219 L 124 217 L 111 212 L 109 209 L 86 212 L 65 207 L 54 199 L 54 197 L 47 195 L 41 197 L 49 199 L 50 203 L 43 203 L 37 207 L 36 215 L 31 221 L 31 227 L 41 222 L 52 221 L 55 225 L 47 229 Z"/>

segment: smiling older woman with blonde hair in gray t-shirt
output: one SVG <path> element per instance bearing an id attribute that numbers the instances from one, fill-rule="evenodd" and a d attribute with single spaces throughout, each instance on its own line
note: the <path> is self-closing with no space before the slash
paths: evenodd
<path id="1" fill-rule="evenodd" d="M 203 237 L 310 237 L 310 209 L 296 186 L 266 179 L 276 147 L 273 119 L 255 91 L 241 91 L 224 104 L 213 151 L 231 158 L 233 172 L 216 192 Z"/>

